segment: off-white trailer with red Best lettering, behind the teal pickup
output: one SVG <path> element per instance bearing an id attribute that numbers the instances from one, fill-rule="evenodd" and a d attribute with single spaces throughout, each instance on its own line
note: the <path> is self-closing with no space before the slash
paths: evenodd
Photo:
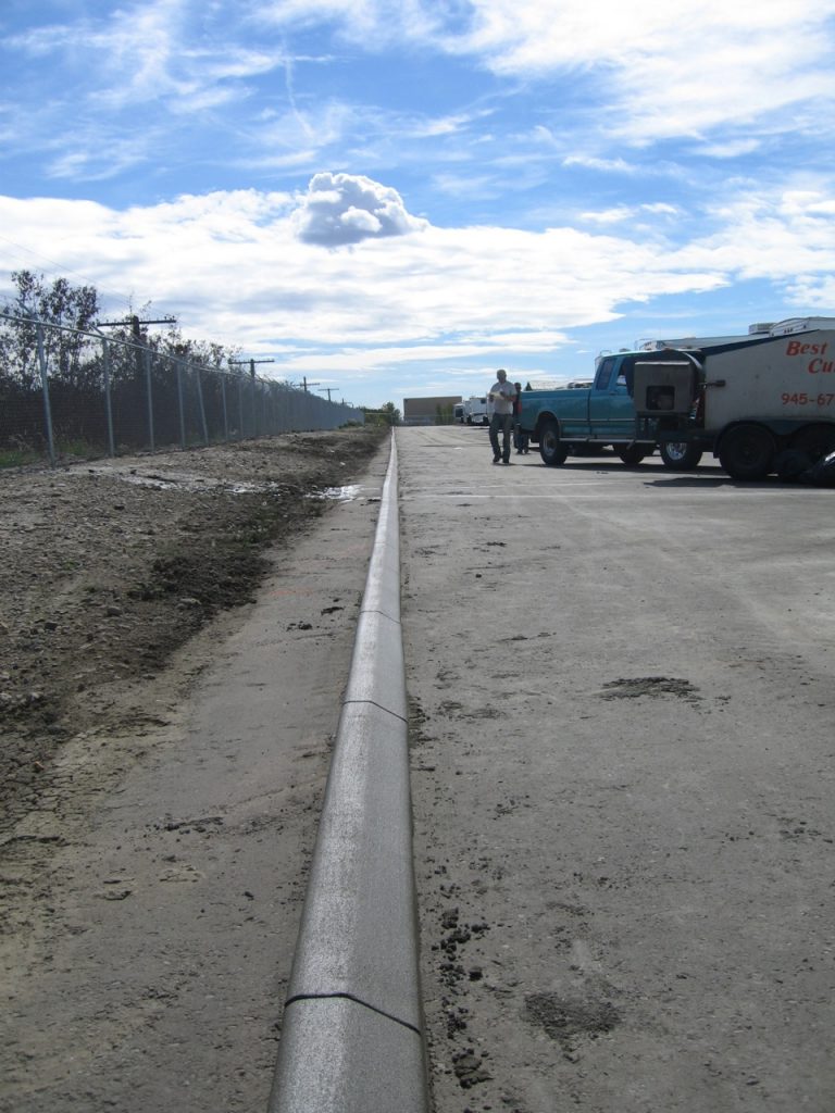
<path id="1" fill-rule="evenodd" d="M 788 449 L 814 463 L 835 451 L 835 317 L 647 351 L 632 396 L 637 431 L 691 459 L 710 451 L 735 479 L 768 475 Z"/>

